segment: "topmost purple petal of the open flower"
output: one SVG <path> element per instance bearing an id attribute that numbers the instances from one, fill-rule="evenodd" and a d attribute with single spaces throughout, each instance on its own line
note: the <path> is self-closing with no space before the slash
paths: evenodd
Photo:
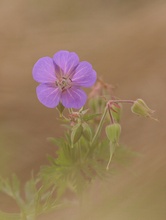
<path id="1" fill-rule="evenodd" d="M 53 60 L 64 74 L 70 74 L 79 63 L 79 57 L 74 52 L 61 50 L 54 54 Z"/>

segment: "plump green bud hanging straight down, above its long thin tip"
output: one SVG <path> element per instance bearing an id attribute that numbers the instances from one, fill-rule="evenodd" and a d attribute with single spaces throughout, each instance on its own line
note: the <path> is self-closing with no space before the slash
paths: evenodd
<path id="1" fill-rule="evenodd" d="M 118 123 L 108 125 L 106 127 L 106 135 L 111 143 L 117 144 L 121 133 L 121 126 Z"/>

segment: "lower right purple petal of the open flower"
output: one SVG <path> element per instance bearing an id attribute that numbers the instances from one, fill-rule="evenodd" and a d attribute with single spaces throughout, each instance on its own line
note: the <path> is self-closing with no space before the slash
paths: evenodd
<path id="1" fill-rule="evenodd" d="M 78 87 L 71 87 L 61 95 L 61 102 L 66 108 L 81 108 L 86 102 L 86 93 Z"/>

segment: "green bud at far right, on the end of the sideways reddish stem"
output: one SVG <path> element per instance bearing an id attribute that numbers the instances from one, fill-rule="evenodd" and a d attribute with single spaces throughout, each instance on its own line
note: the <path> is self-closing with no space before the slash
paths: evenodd
<path id="1" fill-rule="evenodd" d="M 137 99 L 134 102 L 131 107 L 131 111 L 139 116 L 150 118 L 152 118 L 152 114 L 154 113 L 154 111 L 151 110 L 142 99 Z"/>

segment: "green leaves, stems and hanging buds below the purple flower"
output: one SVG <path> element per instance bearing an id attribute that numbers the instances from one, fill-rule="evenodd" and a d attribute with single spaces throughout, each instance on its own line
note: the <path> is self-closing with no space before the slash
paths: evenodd
<path id="1" fill-rule="evenodd" d="M 48 157 L 49 165 L 41 167 L 36 177 L 32 175 L 24 187 L 16 175 L 10 180 L 0 178 L 0 192 L 13 198 L 20 208 L 16 214 L 0 212 L 0 219 L 35 220 L 64 205 L 68 192 L 79 200 L 96 179 L 107 179 L 116 164 L 131 161 L 134 153 L 119 144 L 119 138 L 122 103 L 134 101 L 116 100 L 111 86 L 101 80 L 90 97 L 90 109 L 64 113 L 63 106 L 58 105 L 66 131 L 62 138 L 50 138 L 58 147 L 56 156 Z"/>

